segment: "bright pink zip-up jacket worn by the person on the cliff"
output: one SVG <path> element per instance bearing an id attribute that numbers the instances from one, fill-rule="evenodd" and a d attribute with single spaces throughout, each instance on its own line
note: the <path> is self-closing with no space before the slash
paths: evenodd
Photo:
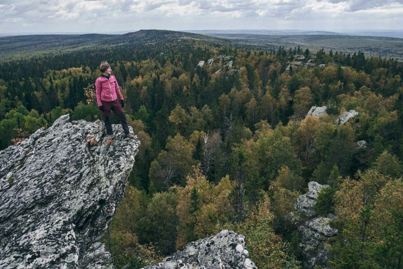
<path id="1" fill-rule="evenodd" d="M 97 95 L 98 106 L 102 105 L 102 101 L 114 101 L 118 96 L 120 100 L 123 100 L 117 80 L 112 75 L 110 75 L 109 80 L 106 77 L 97 78 L 95 81 L 95 93 Z"/>

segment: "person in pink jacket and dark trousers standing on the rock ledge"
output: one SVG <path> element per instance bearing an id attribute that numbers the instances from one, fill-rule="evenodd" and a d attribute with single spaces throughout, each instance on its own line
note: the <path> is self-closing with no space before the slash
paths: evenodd
<path id="1" fill-rule="evenodd" d="M 108 135 L 107 143 L 113 142 L 113 130 L 110 123 L 110 111 L 113 110 L 115 115 L 120 119 L 123 131 L 128 138 L 134 138 L 129 132 L 127 126 L 126 115 L 123 112 L 123 95 L 120 93 L 119 85 L 115 76 L 112 76 L 112 69 L 107 62 L 102 62 L 99 66 L 101 76 L 95 81 L 95 93 L 97 95 L 97 103 L 99 110 L 105 118 L 105 128 Z"/>

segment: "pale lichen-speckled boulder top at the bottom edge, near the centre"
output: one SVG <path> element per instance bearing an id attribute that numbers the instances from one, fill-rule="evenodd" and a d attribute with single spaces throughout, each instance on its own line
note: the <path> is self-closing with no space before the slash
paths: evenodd
<path id="1" fill-rule="evenodd" d="M 245 249 L 245 237 L 224 230 L 216 236 L 187 244 L 171 256 L 146 269 L 257 269 Z"/>

